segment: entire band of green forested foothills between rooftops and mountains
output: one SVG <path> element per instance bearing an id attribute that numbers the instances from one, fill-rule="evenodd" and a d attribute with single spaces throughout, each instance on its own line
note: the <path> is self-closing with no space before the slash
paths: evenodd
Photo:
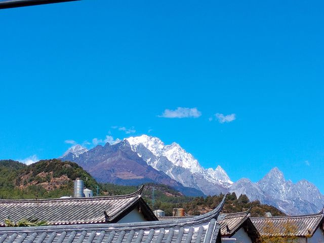
<path id="1" fill-rule="evenodd" d="M 121 195 L 136 191 L 136 186 L 121 186 L 97 183 L 82 167 L 69 161 L 58 159 L 40 160 L 26 166 L 14 160 L 0 160 L 0 198 L 1 199 L 34 199 L 58 198 L 73 195 L 73 180 L 88 178 L 88 188 L 100 195 Z M 213 210 L 224 195 L 193 197 L 184 196 L 181 192 L 167 185 L 146 183 L 143 198 L 153 209 L 161 209 L 166 216 L 172 216 L 173 208 L 184 208 L 189 215 L 200 215 Z M 154 188 L 154 205 L 153 205 Z M 252 207 L 252 216 L 264 216 L 270 212 L 273 216 L 284 215 L 272 206 L 250 202 L 246 195 L 238 198 L 235 193 L 227 195 L 223 213 L 234 213 Z"/>

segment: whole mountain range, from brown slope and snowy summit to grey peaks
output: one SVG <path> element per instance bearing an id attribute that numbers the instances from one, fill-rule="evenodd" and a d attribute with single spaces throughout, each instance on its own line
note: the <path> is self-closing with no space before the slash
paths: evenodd
<path id="1" fill-rule="evenodd" d="M 306 180 L 296 184 L 287 181 L 277 168 L 257 183 L 247 178 L 233 183 L 220 166 L 205 169 L 179 144 L 165 145 L 159 138 L 147 135 L 97 145 L 90 150 L 74 145 L 60 159 L 77 163 L 99 182 L 163 183 L 186 195 L 235 192 L 290 215 L 317 213 L 324 205 L 324 196 L 315 185 Z"/>

